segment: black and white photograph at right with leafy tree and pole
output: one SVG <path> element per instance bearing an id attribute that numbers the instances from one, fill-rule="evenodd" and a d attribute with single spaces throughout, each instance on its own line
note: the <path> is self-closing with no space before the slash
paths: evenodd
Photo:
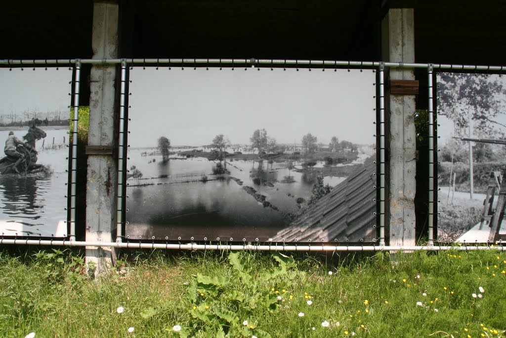
<path id="1" fill-rule="evenodd" d="M 506 77 L 437 74 L 438 235 L 494 242 L 506 233 Z M 495 224 L 495 225 L 494 225 Z"/>

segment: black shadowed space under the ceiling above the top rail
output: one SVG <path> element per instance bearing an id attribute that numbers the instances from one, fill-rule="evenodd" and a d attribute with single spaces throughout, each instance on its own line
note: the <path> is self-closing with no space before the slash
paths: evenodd
<path id="1" fill-rule="evenodd" d="M 385 3 L 384 9 L 381 4 Z M 500 65 L 505 0 L 123 0 L 121 57 L 379 60 L 385 7 L 415 8 L 417 62 Z M 93 2 L 9 1 L 1 59 L 90 58 Z"/>

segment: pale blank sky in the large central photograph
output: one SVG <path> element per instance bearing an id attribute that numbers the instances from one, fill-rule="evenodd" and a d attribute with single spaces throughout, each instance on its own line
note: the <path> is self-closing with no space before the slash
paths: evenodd
<path id="1" fill-rule="evenodd" d="M 375 73 L 371 69 L 134 67 L 130 70 L 129 144 L 210 144 L 224 134 L 248 144 L 265 128 L 278 143 L 307 133 L 375 143 Z"/>

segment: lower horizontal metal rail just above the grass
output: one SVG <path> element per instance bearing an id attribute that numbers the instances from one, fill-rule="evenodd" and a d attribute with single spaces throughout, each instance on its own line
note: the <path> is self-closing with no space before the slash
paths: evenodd
<path id="1" fill-rule="evenodd" d="M 139 249 L 177 249 L 177 250 L 258 250 L 258 251 L 443 251 L 443 250 L 501 250 L 502 245 L 479 245 L 479 243 L 460 243 L 457 245 L 423 246 L 384 246 L 384 245 L 284 245 L 265 244 L 196 244 L 196 243 L 125 243 L 125 242 L 74 242 L 33 239 L 2 239 L 0 244 L 55 245 L 55 246 L 95 246 Z"/>

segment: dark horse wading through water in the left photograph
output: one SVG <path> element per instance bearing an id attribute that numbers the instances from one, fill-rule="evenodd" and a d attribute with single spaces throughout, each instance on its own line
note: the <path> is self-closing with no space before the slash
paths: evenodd
<path id="1" fill-rule="evenodd" d="M 23 136 L 26 144 L 19 144 L 17 152 L 24 156 L 24 161 L 18 165 L 18 170 L 22 173 L 35 173 L 44 169 L 44 166 L 37 164 L 37 151 L 35 150 L 35 141 L 46 137 L 46 132 L 32 124 L 28 133 Z M 0 174 L 16 173 L 12 168 L 18 159 L 6 156 L 0 159 Z"/>

